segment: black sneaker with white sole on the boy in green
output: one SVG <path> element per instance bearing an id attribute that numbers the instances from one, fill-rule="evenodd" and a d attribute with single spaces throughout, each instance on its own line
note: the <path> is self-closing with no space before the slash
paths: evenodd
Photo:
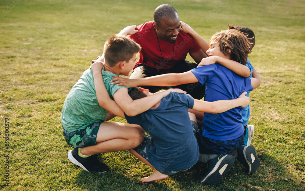
<path id="1" fill-rule="evenodd" d="M 83 158 L 78 156 L 78 148 L 73 150 L 69 150 L 68 152 L 68 159 L 71 163 L 76 164 L 77 166 L 81 167 L 85 171 L 89 172 L 106 172 L 108 170 L 108 166 L 99 160 L 97 160 L 97 155 L 92 155 L 87 158 Z"/>

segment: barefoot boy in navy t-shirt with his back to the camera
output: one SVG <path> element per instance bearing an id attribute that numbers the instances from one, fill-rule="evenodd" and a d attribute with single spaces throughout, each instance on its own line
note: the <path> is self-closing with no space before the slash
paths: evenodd
<path id="1" fill-rule="evenodd" d="M 152 95 L 148 89 L 138 87 L 132 88 L 128 94 L 134 100 Z M 150 135 L 145 136 L 140 146 L 129 150 L 153 168 L 153 173 L 142 178 L 142 182 L 164 180 L 168 175 L 188 170 L 196 164 L 199 156 L 196 140 L 198 126 L 195 115 L 188 113 L 188 108 L 221 113 L 248 105 L 249 98 L 245 94 L 246 92 L 242 93 L 237 99 L 206 102 L 193 99 L 188 94 L 171 92 L 142 114 L 134 117 L 125 114 L 128 123 L 140 125 Z"/>

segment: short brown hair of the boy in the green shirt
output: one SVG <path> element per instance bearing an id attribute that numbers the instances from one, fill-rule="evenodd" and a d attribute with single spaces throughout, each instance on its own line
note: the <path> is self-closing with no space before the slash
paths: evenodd
<path id="1" fill-rule="evenodd" d="M 128 63 L 134 54 L 140 52 L 140 50 L 141 46 L 135 41 L 115 34 L 108 38 L 104 45 L 104 59 L 109 67 L 114 67 L 121 61 Z"/>

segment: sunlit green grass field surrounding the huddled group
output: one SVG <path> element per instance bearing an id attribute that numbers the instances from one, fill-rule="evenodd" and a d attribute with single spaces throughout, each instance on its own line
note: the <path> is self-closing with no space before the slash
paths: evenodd
<path id="1" fill-rule="evenodd" d="M 67 159 L 60 115 L 70 89 L 111 34 L 153 20 L 163 3 L 173 5 L 181 21 L 207 41 L 228 23 L 255 32 L 249 59 L 262 83 L 250 94 L 249 123 L 255 126 L 252 144 L 261 166 L 253 175 L 236 162 L 219 186 L 203 186 L 199 179 L 207 166 L 196 164 L 165 181 L 143 184 L 140 179 L 152 169 L 127 151 L 102 154 L 110 167 L 102 175 Z M 304 190 L 304 10 L 302 0 L 0 1 L 0 188 Z"/>

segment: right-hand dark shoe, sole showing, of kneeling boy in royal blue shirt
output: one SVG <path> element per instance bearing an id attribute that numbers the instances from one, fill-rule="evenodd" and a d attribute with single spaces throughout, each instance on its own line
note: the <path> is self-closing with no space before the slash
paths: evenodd
<path id="1" fill-rule="evenodd" d="M 252 145 L 242 145 L 238 149 L 237 160 L 246 168 L 248 175 L 251 175 L 260 166 L 260 160 L 256 157 L 256 152 Z"/>

